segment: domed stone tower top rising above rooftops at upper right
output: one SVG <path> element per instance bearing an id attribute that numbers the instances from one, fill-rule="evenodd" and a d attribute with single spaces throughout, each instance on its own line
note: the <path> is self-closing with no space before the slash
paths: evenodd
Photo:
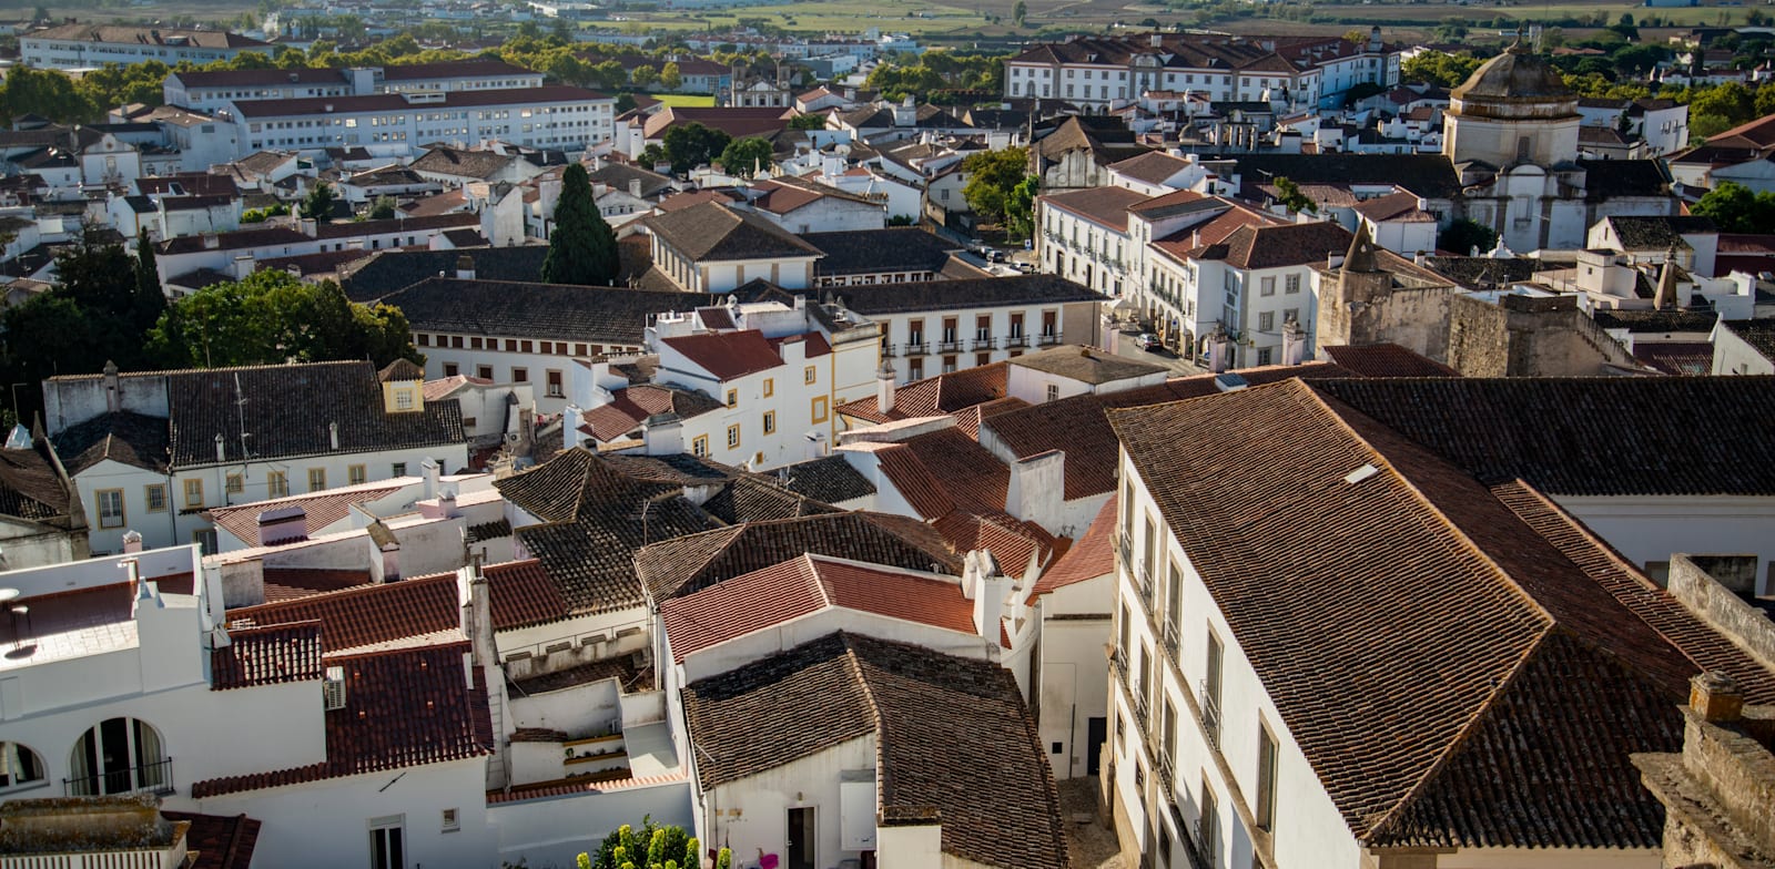
<path id="1" fill-rule="evenodd" d="M 1443 156 L 1495 168 L 1569 163 L 1578 158 L 1578 94 L 1518 39 L 1450 94 Z"/>

